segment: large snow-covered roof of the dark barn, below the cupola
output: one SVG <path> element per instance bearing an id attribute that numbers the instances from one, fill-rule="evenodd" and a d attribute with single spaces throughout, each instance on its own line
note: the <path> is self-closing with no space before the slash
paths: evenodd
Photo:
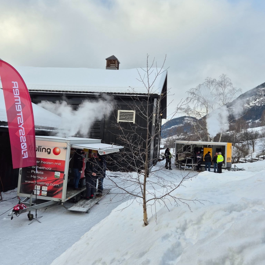
<path id="1" fill-rule="evenodd" d="M 111 71 L 91 68 L 16 67 L 16 70 L 29 91 L 147 94 L 143 82 L 139 81 L 140 74 L 147 83 L 147 73 L 141 68 Z M 149 81 L 153 82 L 157 70 L 160 69 L 149 70 Z M 152 86 L 151 94 L 160 95 L 166 74 L 167 71 L 162 69 Z"/>

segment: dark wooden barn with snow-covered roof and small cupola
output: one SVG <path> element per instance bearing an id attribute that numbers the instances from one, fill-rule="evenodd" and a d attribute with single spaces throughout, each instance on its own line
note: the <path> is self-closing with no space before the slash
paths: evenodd
<path id="1" fill-rule="evenodd" d="M 162 70 L 156 77 L 157 70 L 150 69 L 148 78 L 153 85 L 149 89 L 147 73 L 143 69 L 119 69 L 120 62 L 115 56 L 106 59 L 106 69 L 89 68 L 39 68 L 18 67 L 23 77 L 32 102 L 35 104 L 43 100 L 56 102 L 66 101 L 74 108 L 84 100 L 98 100 L 104 95 L 110 95 L 116 103 L 111 116 L 94 121 L 87 135 L 90 138 L 101 139 L 102 143 L 119 144 L 121 131 L 115 126 L 122 126 L 127 132 L 134 131 L 134 135 L 147 135 L 147 127 L 152 136 L 149 152 L 150 167 L 157 162 L 160 146 L 160 128 L 162 119 L 166 118 L 167 106 L 167 71 Z M 144 83 L 139 81 L 143 79 Z M 147 120 L 143 113 L 151 113 Z M 100 110 L 99 110 L 100 111 Z M 133 136 L 133 141 L 139 141 Z M 126 148 L 124 149 L 126 152 Z M 110 161 L 110 170 L 117 170 Z M 127 167 L 130 170 L 130 166 Z"/>

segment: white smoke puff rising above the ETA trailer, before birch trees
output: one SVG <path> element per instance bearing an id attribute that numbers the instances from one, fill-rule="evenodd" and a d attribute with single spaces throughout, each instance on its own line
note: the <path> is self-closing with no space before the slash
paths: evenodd
<path id="1" fill-rule="evenodd" d="M 226 105 L 215 109 L 207 116 L 207 130 L 212 138 L 221 131 L 226 132 L 229 129 L 228 116 Z"/>

